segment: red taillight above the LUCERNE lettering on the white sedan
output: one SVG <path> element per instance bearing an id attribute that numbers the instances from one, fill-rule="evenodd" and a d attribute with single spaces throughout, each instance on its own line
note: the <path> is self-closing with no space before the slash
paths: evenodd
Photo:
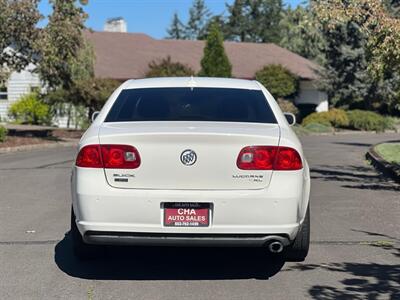
<path id="1" fill-rule="evenodd" d="M 249 146 L 243 148 L 236 162 L 242 170 L 300 170 L 300 154 L 289 147 Z"/>

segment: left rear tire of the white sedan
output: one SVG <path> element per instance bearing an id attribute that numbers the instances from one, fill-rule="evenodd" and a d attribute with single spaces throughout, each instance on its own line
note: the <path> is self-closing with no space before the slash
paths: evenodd
<path id="1" fill-rule="evenodd" d="M 83 241 L 82 235 L 78 230 L 76 225 L 76 217 L 74 214 L 74 210 L 71 209 L 71 240 L 72 240 L 72 249 L 74 255 L 79 260 L 90 260 L 96 258 L 99 255 L 99 247 L 95 245 L 86 244 Z"/>

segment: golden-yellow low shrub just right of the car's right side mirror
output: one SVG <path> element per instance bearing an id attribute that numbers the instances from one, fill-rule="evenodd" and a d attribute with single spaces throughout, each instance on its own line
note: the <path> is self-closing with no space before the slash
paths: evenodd
<path id="1" fill-rule="evenodd" d="M 319 123 L 335 128 L 345 128 L 349 126 L 349 118 L 342 109 L 333 108 L 329 111 L 312 113 L 303 119 L 303 126 L 311 123 Z"/>

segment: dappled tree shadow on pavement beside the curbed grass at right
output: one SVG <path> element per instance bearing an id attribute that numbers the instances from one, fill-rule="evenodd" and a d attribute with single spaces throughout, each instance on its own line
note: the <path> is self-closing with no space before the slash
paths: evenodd
<path id="1" fill-rule="evenodd" d="M 342 182 L 342 187 L 350 189 L 400 191 L 400 185 L 372 167 L 318 166 L 311 168 L 311 178 Z"/>

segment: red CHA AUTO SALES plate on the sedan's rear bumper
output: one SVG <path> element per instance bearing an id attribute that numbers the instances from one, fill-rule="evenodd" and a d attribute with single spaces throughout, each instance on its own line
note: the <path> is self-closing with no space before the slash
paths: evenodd
<path id="1" fill-rule="evenodd" d="M 207 227 L 209 225 L 208 203 L 164 203 L 164 226 Z"/>

